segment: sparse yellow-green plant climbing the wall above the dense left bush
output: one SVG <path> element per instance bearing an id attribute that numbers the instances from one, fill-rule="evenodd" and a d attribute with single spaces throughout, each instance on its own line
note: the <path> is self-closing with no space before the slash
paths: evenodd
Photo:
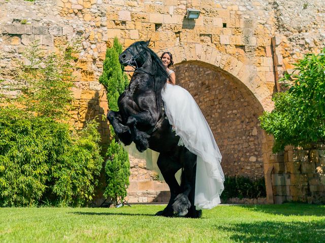
<path id="1" fill-rule="evenodd" d="M 67 118 L 72 100 L 74 45 L 44 57 L 36 42 L 23 53 L 26 61 L 18 61 L 17 79 L 27 82 L 23 102 L 28 111 L 52 119 Z"/>

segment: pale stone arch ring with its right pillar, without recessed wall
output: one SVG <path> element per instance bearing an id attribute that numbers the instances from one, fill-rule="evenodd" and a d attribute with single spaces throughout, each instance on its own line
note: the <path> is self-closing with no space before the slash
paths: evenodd
<path id="1" fill-rule="evenodd" d="M 229 54 L 221 53 L 214 47 L 208 45 L 188 44 L 186 46 L 175 46 L 173 48 L 167 48 L 165 50 L 159 51 L 158 55 L 161 55 L 161 53 L 164 51 L 169 51 L 173 54 L 175 66 L 174 70 L 176 69 L 176 71 L 178 67 L 190 64 L 198 65 L 202 68 L 207 68 L 214 72 L 223 73 L 224 75 L 228 76 L 233 80 L 233 82 L 241 87 L 241 90 L 245 91 L 247 97 L 250 97 L 250 103 L 256 106 L 258 115 L 262 114 L 262 112 L 265 110 L 270 111 L 273 109 L 273 103 L 271 102 L 272 92 L 263 82 L 262 78 L 258 76 L 258 71 L 253 65 L 245 65 L 235 57 Z M 181 85 L 184 88 L 188 88 L 186 85 Z M 194 99 L 197 98 L 194 97 Z M 271 148 L 273 139 L 270 136 L 267 136 L 266 133 L 261 128 L 259 128 L 256 115 L 254 116 L 254 119 L 256 122 L 257 134 L 259 134 L 258 142 L 255 143 L 255 148 L 258 147 L 258 149 L 255 150 L 258 150 L 258 155 L 249 156 L 246 157 L 246 159 L 250 160 L 251 165 L 253 165 L 250 168 L 251 170 L 255 170 L 256 167 L 262 166 L 262 168 L 259 168 L 262 169 L 259 170 L 259 176 L 265 177 L 267 187 L 267 201 L 268 203 L 273 203 L 272 184 L 270 179 L 271 177 L 269 175 L 271 171 L 270 169 L 272 169 L 270 168 L 269 160 L 272 153 Z M 211 121 L 209 122 L 208 120 L 208 123 L 211 124 Z M 213 132 L 216 136 L 216 132 Z M 254 134 L 256 134 L 255 130 Z M 218 141 L 218 139 L 216 140 Z M 220 145 L 222 147 L 222 144 Z M 259 163 L 259 165 L 256 165 L 256 163 Z M 247 166 L 249 167 L 249 163 Z M 229 167 L 236 167 L 236 163 L 229 165 Z"/>

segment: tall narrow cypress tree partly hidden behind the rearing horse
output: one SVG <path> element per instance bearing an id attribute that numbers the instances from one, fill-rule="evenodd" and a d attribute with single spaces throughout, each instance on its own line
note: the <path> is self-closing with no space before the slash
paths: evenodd
<path id="1" fill-rule="evenodd" d="M 122 52 L 122 46 L 118 39 L 114 38 L 114 45 L 107 49 L 104 61 L 104 70 L 99 82 L 103 84 L 107 91 L 108 105 L 111 110 L 118 111 L 117 99 L 128 86 L 127 76 L 122 72 L 118 56 Z M 129 185 L 129 159 L 127 152 L 121 144 L 117 142 L 115 133 L 110 125 L 111 136 L 113 137 L 108 147 L 106 156 L 105 171 L 106 183 L 104 195 L 112 197 L 116 204 L 122 203 L 126 196 L 126 188 Z"/>

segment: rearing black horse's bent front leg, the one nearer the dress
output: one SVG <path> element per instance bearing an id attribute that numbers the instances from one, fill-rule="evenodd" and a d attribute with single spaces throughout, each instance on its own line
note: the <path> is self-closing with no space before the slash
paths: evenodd
<path id="1" fill-rule="evenodd" d="M 154 113 L 153 115 L 149 111 L 144 111 L 128 117 L 126 124 L 129 127 L 133 141 L 135 142 L 136 147 L 140 152 L 143 152 L 148 148 L 148 139 L 150 135 L 148 135 L 146 132 L 138 130 L 136 125 L 149 125 L 153 127 L 156 124 L 157 120 L 158 114 Z"/>

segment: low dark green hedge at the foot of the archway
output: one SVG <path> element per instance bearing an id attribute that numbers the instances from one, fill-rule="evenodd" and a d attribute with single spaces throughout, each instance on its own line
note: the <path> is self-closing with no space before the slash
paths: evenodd
<path id="1" fill-rule="evenodd" d="M 223 183 L 224 190 L 221 194 L 222 199 L 232 197 L 239 198 L 258 198 L 266 196 L 264 178 L 250 179 L 243 176 L 226 176 Z"/>

